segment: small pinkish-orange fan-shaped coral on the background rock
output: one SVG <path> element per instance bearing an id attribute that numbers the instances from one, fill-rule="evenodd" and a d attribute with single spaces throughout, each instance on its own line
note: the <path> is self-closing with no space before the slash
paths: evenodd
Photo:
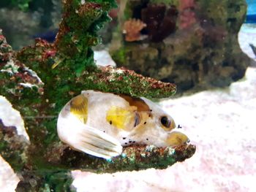
<path id="1" fill-rule="evenodd" d="M 146 27 L 141 20 L 129 19 L 124 22 L 123 33 L 127 42 L 135 42 L 140 40 L 140 31 Z"/>

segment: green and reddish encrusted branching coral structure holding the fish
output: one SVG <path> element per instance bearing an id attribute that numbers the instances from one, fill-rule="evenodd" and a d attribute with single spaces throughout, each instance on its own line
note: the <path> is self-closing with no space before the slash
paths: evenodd
<path id="1" fill-rule="evenodd" d="M 176 85 L 143 77 L 124 68 L 97 67 L 92 46 L 97 31 L 110 20 L 115 1 L 63 0 L 64 15 L 56 42 L 12 50 L 0 31 L 0 94 L 22 116 L 29 141 L 15 127 L 0 121 L 0 154 L 20 177 L 16 191 L 73 191 L 70 172 L 116 172 L 165 169 L 195 153 L 194 145 L 176 148 L 125 147 L 123 155 L 106 161 L 72 150 L 57 136 L 56 120 L 64 104 L 82 90 L 162 98 Z"/>

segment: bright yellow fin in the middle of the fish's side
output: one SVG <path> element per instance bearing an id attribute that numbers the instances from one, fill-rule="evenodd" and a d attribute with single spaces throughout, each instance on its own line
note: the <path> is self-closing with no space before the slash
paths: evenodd
<path id="1" fill-rule="evenodd" d="M 135 122 L 136 107 L 129 107 L 128 110 L 122 107 L 113 106 L 108 110 L 106 120 L 116 128 L 128 129 L 130 123 Z"/>

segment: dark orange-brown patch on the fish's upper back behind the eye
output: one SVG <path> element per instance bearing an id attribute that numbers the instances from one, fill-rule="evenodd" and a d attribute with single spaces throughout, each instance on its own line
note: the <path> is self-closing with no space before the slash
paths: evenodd
<path id="1" fill-rule="evenodd" d="M 142 111 L 150 111 L 150 108 L 148 106 L 148 104 L 146 104 L 145 101 L 143 101 L 143 99 L 140 99 L 138 97 L 132 97 L 132 96 L 127 96 L 124 94 L 118 94 L 118 96 L 121 96 L 121 98 L 123 98 L 124 100 L 126 100 L 130 106 L 135 106 L 137 107 L 137 111 L 138 112 L 142 112 Z"/>

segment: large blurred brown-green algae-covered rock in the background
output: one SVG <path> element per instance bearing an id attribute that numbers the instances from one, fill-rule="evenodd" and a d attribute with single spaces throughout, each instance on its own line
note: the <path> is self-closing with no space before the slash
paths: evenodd
<path id="1" fill-rule="evenodd" d="M 147 27 L 141 35 L 147 38 L 120 39 L 120 46 L 111 50 L 117 66 L 175 82 L 178 92 L 227 86 L 244 76 L 249 58 L 238 45 L 244 0 L 133 0 L 119 15 L 124 21 L 143 20 Z"/>

